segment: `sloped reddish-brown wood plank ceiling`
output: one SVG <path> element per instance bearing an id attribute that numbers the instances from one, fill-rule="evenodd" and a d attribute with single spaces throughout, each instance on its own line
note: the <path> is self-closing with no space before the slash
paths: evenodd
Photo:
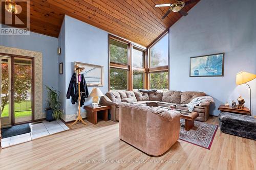
<path id="1" fill-rule="evenodd" d="M 171 12 L 162 19 L 169 8 L 156 8 L 155 5 L 175 1 L 30 0 L 30 30 L 58 37 L 63 17 L 67 14 L 109 33 L 148 46 L 182 17 L 179 13 Z M 186 1 L 189 0 L 183 0 Z M 185 6 L 185 11 L 196 4 Z"/>

